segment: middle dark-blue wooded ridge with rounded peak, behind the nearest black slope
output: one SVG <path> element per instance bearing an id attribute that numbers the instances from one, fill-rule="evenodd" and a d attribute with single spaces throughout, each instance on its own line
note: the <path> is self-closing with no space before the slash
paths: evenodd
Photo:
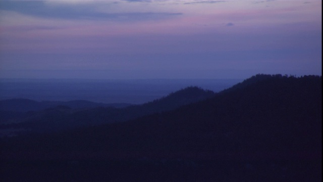
<path id="1" fill-rule="evenodd" d="M 9 121 L 7 120 L 4 122 L 6 124 L 0 125 L 0 129 L 18 129 L 19 132 L 16 134 L 26 134 L 26 132 L 49 132 L 80 126 L 121 122 L 147 114 L 173 110 L 180 106 L 213 96 L 214 93 L 212 91 L 191 86 L 146 104 L 133 105 L 124 108 L 96 107 L 75 109 L 75 105 L 78 105 L 79 101 L 64 102 L 63 104 L 67 106 L 65 109 L 62 109 L 57 105 L 56 107 L 41 111 L 29 111 L 26 113 L 28 117 L 18 117 L 16 119 L 10 119 Z M 83 104 L 85 103 L 86 106 L 91 106 L 91 102 L 89 102 L 90 104 L 84 101 L 80 102 Z M 60 104 L 60 102 L 56 104 Z M 81 106 L 83 105 L 78 105 L 78 107 Z M 10 118 L 10 113 L 6 114 L 6 117 Z"/>

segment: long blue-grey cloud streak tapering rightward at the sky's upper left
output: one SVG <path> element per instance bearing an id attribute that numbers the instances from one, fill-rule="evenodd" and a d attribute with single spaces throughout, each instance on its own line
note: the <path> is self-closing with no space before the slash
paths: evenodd
<path id="1" fill-rule="evenodd" d="M 165 19 L 182 15 L 167 12 L 129 12 L 105 13 L 96 8 L 99 4 L 59 4 L 48 5 L 42 1 L 2 2 L 0 10 L 13 11 L 34 17 L 66 20 L 109 20 L 109 21 L 147 21 Z"/>

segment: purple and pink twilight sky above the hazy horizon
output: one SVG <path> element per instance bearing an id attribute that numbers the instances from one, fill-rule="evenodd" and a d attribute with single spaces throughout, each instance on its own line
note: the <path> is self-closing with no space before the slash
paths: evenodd
<path id="1" fill-rule="evenodd" d="M 0 1 L 0 78 L 321 75 L 318 0 Z"/>

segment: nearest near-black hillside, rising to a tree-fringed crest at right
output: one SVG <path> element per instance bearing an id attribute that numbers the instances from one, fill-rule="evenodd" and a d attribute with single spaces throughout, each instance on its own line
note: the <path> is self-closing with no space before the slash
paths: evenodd
<path id="1" fill-rule="evenodd" d="M 124 123 L 3 140 L 4 176 L 321 181 L 321 77 L 257 75 L 246 82 L 211 99 Z M 31 168 L 11 174 L 24 167 Z"/>

